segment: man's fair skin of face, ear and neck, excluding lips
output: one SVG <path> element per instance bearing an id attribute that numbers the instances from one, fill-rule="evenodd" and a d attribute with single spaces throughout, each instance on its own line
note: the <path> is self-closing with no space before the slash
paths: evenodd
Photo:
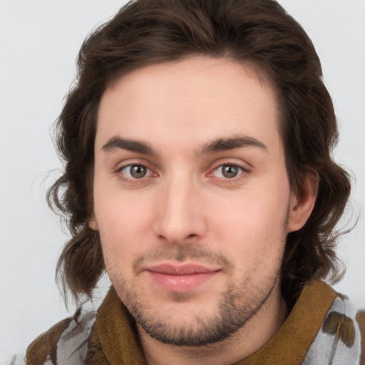
<path id="1" fill-rule="evenodd" d="M 146 66 L 103 94 L 89 225 L 148 364 L 232 364 L 286 317 L 285 239 L 316 187 L 291 191 L 278 127 L 272 86 L 227 58 Z M 213 274 L 182 292 L 158 264 Z"/>

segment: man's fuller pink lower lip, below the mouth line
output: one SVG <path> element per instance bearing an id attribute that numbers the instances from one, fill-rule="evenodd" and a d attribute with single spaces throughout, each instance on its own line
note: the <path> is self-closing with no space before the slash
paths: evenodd
<path id="1" fill-rule="evenodd" d="M 187 275 L 162 274 L 153 271 L 148 271 L 148 273 L 153 282 L 158 284 L 162 289 L 168 290 L 169 292 L 187 293 L 197 289 L 197 287 L 200 287 L 200 285 L 214 277 L 217 271 Z"/>

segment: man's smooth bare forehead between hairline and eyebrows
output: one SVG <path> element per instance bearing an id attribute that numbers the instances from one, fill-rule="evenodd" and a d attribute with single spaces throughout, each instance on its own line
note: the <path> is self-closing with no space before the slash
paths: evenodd
<path id="1" fill-rule="evenodd" d="M 245 134 L 278 138 L 277 103 L 269 82 L 228 58 L 159 63 L 118 78 L 103 94 L 96 147 L 113 135 L 150 143 L 204 143 Z"/>

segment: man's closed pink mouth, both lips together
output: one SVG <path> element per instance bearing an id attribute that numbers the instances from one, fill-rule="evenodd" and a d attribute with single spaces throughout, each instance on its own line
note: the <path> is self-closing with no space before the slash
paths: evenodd
<path id="1" fill-rule="evenodd" d="M 202 264 L 158 264 L 146 267 L 150 279 L 168 292 L 187 293 L 197 289 L 220 272 Z"/>

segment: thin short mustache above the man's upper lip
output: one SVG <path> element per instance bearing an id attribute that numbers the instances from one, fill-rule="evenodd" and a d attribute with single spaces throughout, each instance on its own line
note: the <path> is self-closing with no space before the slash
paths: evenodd
<path id="1" fill-rule="evenodd" d="M 133 262 L 133 273 L 135 275 L 142 271 L 144 262 L 155 262 L 162 260 L 175 260 L 183 262 L 191 259 L 202 264 L 217 264 L 230 272 L 233 264 L 222 252 L 213 252 L 207 247 L 199 244 L 171 245 L 163 244 L 161 247 L 144 252 Z"/>

